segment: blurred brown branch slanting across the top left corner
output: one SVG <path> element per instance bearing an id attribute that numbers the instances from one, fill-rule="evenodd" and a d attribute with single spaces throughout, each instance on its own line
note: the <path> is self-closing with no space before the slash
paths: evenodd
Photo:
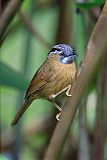
<path id="1" fill-rule="evenodd" d="M 0 39 L 4 35 L 8 25 L 12 21 L 22 1 L 23 0 L 10 0 L 9 3 L 7 4 L 0 19 Z"/>

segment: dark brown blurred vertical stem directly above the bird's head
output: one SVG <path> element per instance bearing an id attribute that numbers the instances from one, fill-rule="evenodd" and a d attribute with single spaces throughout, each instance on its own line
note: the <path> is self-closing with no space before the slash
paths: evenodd
<path id="1" fill-rule="evenodd" d="M 72 41 L 72 13 L 71 2 L 58 0 L 59 21 L 56 35 L 56 43 L 68 43 Z"/>

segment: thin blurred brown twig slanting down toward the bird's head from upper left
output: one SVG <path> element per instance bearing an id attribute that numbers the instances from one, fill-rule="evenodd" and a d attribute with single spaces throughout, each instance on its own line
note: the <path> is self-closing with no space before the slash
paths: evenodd
<path id="1" fill-rule="evenodd" d="M 33 27 L 32 22 L 28 16 L 23 11 L 19 12 L 20 18 L 23 22 L 23 24 L 26 26 L 26 28 L 32 33 L 32 35 L 42 42 L 42 44 L 45 45 L 48 49 L 51 48 L 51 45 L 41 36 L 41 34 Z"/>

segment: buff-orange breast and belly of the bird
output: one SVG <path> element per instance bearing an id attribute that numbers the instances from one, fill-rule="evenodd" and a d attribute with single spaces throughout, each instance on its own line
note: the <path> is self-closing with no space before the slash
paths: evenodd
<path id="1" fill-rule="evenodd" d="M 76 65 L 74 62 L 72 64 L 62 64 L 58 61 L 53 61 L 50 72 L 49 82 L 42 90 L 42 94 L 45 95 L 44 98 L 58 93 L 70 84 L 72 85 L 76 74 Z"/>

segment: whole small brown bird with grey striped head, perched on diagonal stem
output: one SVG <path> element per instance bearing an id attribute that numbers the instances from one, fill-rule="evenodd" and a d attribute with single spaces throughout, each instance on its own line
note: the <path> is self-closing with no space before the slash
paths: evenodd
<path id="1" fill-rule="evenodd" d="M 35 99 L 51 101 L 60 111 L 56 119 L 60 121 L 62 108 L 55 102 L 55 98 L 62 92 L 72 96 L 70 89 L 76 76 L 75 57 L 77 54 L 68 44 L 56 44 L 49 51 L 46 60 L 40 66 L 31 80 L 25 94 L 25 99 L 14 117 L 11 126 L 15 126 L 20 117 Z"/>

